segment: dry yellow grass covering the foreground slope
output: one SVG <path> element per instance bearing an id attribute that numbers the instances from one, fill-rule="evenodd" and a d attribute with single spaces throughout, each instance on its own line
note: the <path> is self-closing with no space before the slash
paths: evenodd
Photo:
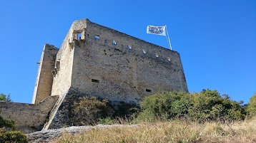
<path id="1" fill-rule="evenodd" d="M 256 142 L 256 119 L 230 125 L 172 121 L 108 127 L 63 134 L 56 142 Z"/>

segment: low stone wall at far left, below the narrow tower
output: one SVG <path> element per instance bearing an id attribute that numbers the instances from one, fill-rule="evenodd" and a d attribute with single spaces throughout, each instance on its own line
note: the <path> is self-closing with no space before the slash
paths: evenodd
<path id="1" fill-rule="evenodd" d="M 36 132 L 44 127 L 58 98 L 59 96 L 49 96 L 38 104 L 0 102 L 0 116 L 5 120 L 14 120 L 17 129 L 25 133 Z"/>

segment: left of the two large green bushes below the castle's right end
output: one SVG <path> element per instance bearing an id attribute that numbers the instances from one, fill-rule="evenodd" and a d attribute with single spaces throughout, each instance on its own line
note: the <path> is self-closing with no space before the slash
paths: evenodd
<path id="1" fill-rule="evenodd" d="M 142 112 L 139 112 L 137 120 L 153 121 L 184 117 L 188 113 L 190 102 L 189 93 L 185 92 L 168 92 L 145 97 L 140 102 Z"/>

